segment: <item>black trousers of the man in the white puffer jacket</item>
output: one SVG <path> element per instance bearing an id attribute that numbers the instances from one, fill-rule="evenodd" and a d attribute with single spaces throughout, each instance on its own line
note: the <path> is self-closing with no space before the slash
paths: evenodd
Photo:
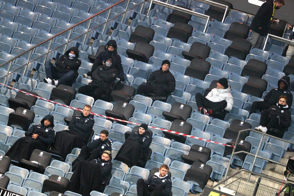
<path id="1" fill-rule="evenodd" d="M 206 109 L 211 109 L 212 113 L 222 112 L 227 107 L 227 101 L 222 100 L 220 102 L 212 102 L 205 98 L 201 93 L 195 95 L 195 100 L 197 107 L 204 107 Z"/>

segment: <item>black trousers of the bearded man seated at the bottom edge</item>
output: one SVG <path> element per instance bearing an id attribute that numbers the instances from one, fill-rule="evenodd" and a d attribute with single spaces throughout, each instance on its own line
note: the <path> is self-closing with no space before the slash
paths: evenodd
<path id="1" fill-rule="evenodd" d="M 137 181 L 138 196 L 159 196 L 163 188 L 162 185 L 148 186 L 142 178 Z"/>

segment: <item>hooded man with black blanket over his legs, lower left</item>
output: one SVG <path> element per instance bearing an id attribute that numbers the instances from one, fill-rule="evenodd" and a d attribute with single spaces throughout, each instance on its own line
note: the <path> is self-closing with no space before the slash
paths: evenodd
<path id="1" fill-rule="evenodd" d="M 54 117 L 46 115 L 39 125 L 32 125 L 6 152 L 5 156 L 20 162 L 21 159 L 30 160 L 34 149 L 47 150 L 54 140 Z"/>

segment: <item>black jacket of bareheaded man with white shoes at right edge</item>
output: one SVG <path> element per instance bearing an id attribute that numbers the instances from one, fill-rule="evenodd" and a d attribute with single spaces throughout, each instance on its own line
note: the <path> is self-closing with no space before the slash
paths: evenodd
<path id="1" fill-rule="evenodd" d="M 279 116 L 279 125 L 282 127 L 290 127 L 291 125 L 291 112 L 289 111 L 288 105 L 280 108 L 279 106 L 274 105 L 271 106 L 268 110 L 268 116 L 272 118 L 276 118 Z"/>

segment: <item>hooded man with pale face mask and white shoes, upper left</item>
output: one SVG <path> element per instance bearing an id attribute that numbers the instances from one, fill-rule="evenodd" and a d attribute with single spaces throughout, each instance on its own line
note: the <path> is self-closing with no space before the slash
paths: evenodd
<path id="1" fill-rule="evenodd" d="M 78 58 L 79 49 L 71 47 L 55 61 L 56 66 L 50 60 L 46 61 L 45 72 L 47 78 L 44 78 L 44 82 L 57 86 L 58 84 L 65 84 L 67 81 L 73 81 L 82 63 Z"/>

